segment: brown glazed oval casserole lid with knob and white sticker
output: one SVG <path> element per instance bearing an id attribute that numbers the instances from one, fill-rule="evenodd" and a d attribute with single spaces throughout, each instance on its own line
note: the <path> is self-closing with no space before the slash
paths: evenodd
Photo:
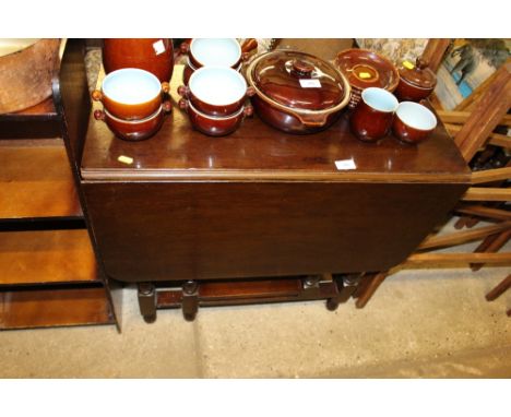
<path id="1" fill-rule="evenodd" d="M 293 50 L 275 50 L 255 58 L 247 78 L 272 102 L 295 110 L 333 109 L 348 93 L 346 80 L 335 68 Z"/>

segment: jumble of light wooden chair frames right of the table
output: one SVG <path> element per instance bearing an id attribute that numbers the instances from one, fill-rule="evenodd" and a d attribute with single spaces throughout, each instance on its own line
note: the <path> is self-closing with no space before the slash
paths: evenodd
<path id="1" fill-rule="evenodd" d="M 444 40 L 447 39 L 433 39 L 424 52 L 430 60 L 432 57 L 432 62 L 437 65 L 432 65 L 433 69 L 438 68 L 449 45 Z M 462 105 L 455 111 L 438 110 L 437 112 L 453 134 L 467 163 L 487 145 L 511 148 L 511 138 L 494 132 L 499 124 L 511 127 L 511 116 L 507 115 L 511 106 L 510 60 L 476 92 L 473 99 L 467 99 Z M 477 223 L 477 219 L 486 219 L 495 224 L 447 236 L 428 237 L 399 269 L 428 265 L 449 267 L 460 266 L 462 263 L 477 271 L 484 264 L 511 264 L 511 253 L 498 253 L 511 237 L 511 212 L 498 206 L 488 206 L 488 202 L 511 201 L 511 188 L 506 187 L 506 181 L 509 179 L 511 179 L 511 164 L 501 168 L 473 171 L 473 187 L 464 194 L 454 214 L 461 215 L 462 218 L 464 216 L 464 225 L 468 226 L 467 218 L 475 219 L 472 226 Z M 489 187 L 480 187 L 485 184 Z M 479 239 L 483 241 L 473 253 L 431 253 L 432 250 Z M 353 294 L 356 298 L 356 307 L 364 308 L 392 272 L 366 274 Z M 511 276 L 508 276 L 488 293 L 486 298 L 495 300 L 510 286 Z M 511 310 L 507 313 L 511 315 Z"/>

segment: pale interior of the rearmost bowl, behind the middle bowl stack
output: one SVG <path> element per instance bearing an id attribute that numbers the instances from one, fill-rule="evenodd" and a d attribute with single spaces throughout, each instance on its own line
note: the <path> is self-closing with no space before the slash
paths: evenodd
<path id="1" fill-rule="evenodd" d="M 241 47 L 235 38 L 197 38 L 190 53 L 204 67 L 233 67 L 241 58 Z"/>

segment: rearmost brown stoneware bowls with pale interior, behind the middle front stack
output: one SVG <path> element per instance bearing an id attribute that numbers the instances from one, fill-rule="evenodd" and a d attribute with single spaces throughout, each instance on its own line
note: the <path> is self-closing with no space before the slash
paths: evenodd
<path id="1" fill-rule="evenodd" d="M 241 69 L 241 47 L 235 38 L 197 38 L 181 44 L 181 52 L 188 53 L 182 81 L 188 85 L 191 74 L 202 67 L 228 67 Z"/>

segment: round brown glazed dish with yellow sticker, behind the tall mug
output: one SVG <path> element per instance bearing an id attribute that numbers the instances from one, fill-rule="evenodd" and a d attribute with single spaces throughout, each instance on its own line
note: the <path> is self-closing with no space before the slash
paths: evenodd
<path id="1" fill-rule="evenodd" d="M 392 93 L 400 82 L 394 64 L 371 50 L 345 49 L 337 53 L 334 64 L 352 86 L 349 108 L 355 108 L 365 88 L 379 87 Z"/>

